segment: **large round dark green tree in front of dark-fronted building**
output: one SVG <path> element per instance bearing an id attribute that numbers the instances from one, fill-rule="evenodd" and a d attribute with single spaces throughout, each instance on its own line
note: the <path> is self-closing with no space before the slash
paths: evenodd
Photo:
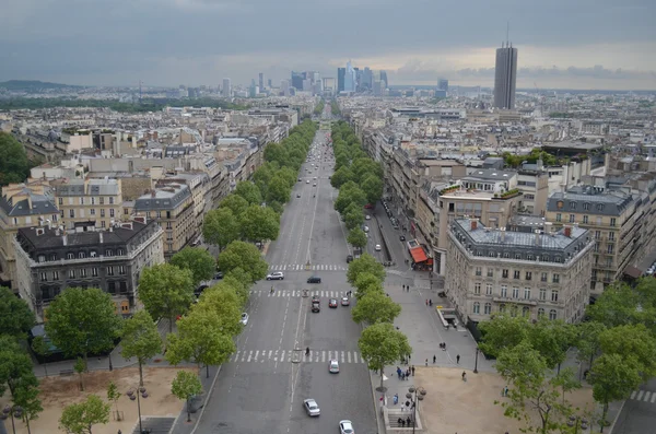
<path id="1" fill-rule="evenodd" d="M 114 347 L 121 319 L 112 295 L 97 288 L 67 288 L 47 308 L 46 333 L 69 356 L 96 354 Z"/>

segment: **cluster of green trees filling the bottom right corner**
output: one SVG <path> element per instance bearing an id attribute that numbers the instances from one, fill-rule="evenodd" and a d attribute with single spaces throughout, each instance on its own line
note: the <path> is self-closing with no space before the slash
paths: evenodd
<path id="1" fill-rule="evenodd" d="M 530 321 L 513 309 L 481 322 L 480 347 L 496 357 L 497 372 L 511 385 L 509 399 L 502 403 L 505 414 L 541 434 L 566 431 L 576 412 L 594 417 L 591 409 L 576 409 L 565 399 L 566 392 L 581 387 L 585 373 L 594 399 L 602 406 L 602 430 L 608 404 L 629 398 L 656 375 L 654 294 L 653 278 L 634 286 L 618 282 L 588 306 L 586 320 L 578 325 L 546 318 Z M 561 370 L 572 348 L 576 348 L 578 373 Z"/>

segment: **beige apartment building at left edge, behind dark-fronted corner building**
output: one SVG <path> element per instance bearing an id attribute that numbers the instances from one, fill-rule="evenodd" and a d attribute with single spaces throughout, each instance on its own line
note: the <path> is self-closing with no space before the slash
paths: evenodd
<path id="1" fill-rule="evenodd" d="M 47 223 L 58 224 L 59 210 L 50 187 L 42 180 L 10 184 L 2 187 L 0 198 L 0 279 L 3 285 L 15 288 L 16 275 L 13 238 L 21 227 Z"/>

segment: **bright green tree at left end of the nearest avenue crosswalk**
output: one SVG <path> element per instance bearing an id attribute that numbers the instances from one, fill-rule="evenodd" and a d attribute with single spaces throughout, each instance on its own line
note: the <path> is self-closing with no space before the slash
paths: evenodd
<path id="1" fill-rule="evenodd" d="M 166 360 L 172 365 L 183 361 L 207 366 L 210 376 L 210 365 L 220 365 L 235 352 L 232 337 L 221 330 L 219 315 L 210 309 L 195 308 L 177 322 L 177 335 L 169 333 L 167 338 Z"/>

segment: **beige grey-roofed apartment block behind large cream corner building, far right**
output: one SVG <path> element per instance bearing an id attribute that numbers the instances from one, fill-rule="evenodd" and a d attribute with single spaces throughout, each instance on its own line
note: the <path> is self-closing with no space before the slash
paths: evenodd
<path id="1" fill-rule="evenodd" d="M 578 225 L 590 231 L 594 248 L 590 290 L 599 294 L 635 259 L 636 246 L 653 243 L 641 239 L 642 226 L 648 223 L 645 202 L 626 190 L 601 191 L 591 186 L 573 187 L 554 192 L 547 203 L 547 221 L 555 226 Z M 646 212 L 651 209 L 647 207 Z M 644 251 L 644 250 L 643 250 Z"/>

